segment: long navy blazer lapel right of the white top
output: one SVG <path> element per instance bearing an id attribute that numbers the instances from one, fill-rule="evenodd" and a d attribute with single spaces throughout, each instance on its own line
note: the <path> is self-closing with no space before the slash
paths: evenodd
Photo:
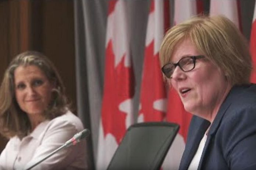
<path id="1" fill-rule="evenodd" d="M 224 100 L 223 104 L 221 104 L 220 110 L 218 111 L 210 129 L 209 129 L 209 133 L 207 136 L 207 140 L 205 143 L 205 147 L 203 148 L 203 153 L 199 162 L 199 166 L 198 166 L 198 170 L 200 170 L 202 168 L 202 162 L 204 161 L 206 154 L 209 153 L 207 152 L 207 149 L 209 147 L 211 138 L 215 135 L 215 133 L 218 130 L 218 127 L 220 126 L 221 120 L 223 118 L 223 116 L 225 115 L 225 112 L 228 110 L 228 108 L 230 107 L 230 105 L 232 104 L 232 100 L 234 99 L 235 96 L 239 95 L 241 87 L 239 86 L 235 86 L 230 90 L 230 93 L 228 94 L 228 96 L 226 97 L 226 99 Z"/>

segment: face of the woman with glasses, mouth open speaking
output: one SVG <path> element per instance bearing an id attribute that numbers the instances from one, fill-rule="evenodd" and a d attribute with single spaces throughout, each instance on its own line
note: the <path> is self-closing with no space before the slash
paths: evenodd
<path id="1" fill-rule="evenodd" d="M 202 54 L 198 52 L 190 39 L 185 39 L 174 48 L 172 62 L 177 63 L 179 59 L 186 56 L 198 55 Z M 199 114 L 199 116 L 204 114 L 200 116 L 204 118 L 218 109 L 225 94 L 230 90 L 223 71 L 206 58 L 197 59 L 195 68 L 188 72 L 182 71 L 177 66 L 173 78 L 169 80 L 178 92 L 185 110 L 195 115 Z"/>

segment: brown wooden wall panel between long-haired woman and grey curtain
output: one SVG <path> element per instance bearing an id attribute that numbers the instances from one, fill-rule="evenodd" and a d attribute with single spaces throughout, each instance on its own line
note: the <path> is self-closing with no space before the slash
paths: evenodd
<path id="1" fill-rule="evenodd" d="M 32 48 L 55 64 L 76 114 L 73 1 L 34 0 L 32 5 Z"/>

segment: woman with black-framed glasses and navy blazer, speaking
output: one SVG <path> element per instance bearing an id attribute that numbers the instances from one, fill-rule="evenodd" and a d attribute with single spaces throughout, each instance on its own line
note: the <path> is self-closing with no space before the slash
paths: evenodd
<path id="1" fill-rule="evenodd" d="M 248 44 L 234 23 L 194 16 L 172 27 L 160 62 L 193 114 L 179 169 L 256 169 L 256 85 Z"/>

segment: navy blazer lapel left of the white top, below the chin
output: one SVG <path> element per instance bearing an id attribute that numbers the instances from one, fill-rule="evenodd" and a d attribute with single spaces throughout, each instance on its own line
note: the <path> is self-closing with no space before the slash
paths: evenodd
<path id="1" fill-rule="evenodd" d="M 196 119 L 196 127 L 191 129 L 194 133 L 191 136 L 190 142 L 186 145 L 179 168 L 180 170 L 188 169 L 194 155 L 196 154 L 200 141 L 210 125 L 210 122 L 205 119 L 199 117 L 194 118 Z"/>

